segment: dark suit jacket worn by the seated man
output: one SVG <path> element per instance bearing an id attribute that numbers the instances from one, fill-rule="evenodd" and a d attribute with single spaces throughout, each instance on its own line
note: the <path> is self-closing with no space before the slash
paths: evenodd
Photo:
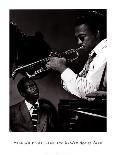
<path id="1" fill-rule="evenodd" d="M 57 115 L 51 103 L 39 100 L 37 132 L 56 131 Z M 24 101 L 10 107 L 10 130 L 13 132 L 33 132 L 30 113 Z"/>

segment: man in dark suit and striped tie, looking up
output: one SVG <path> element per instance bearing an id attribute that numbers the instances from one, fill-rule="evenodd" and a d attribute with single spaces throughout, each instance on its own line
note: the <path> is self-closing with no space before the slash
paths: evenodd
<path id="1" fill-rule="evenodd" d="M 23 101 L 10 107 L 10 131 L 57 131 L 57 113 L 46 99 L 39 98 L 39 89 L 32 79 L 23 77 L 17 84 Z"/>

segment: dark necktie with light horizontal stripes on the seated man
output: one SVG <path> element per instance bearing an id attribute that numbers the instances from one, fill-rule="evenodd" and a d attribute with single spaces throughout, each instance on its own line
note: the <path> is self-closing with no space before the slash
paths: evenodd
<path id="1" fill-rule="evenodd" d="M 33 131 L 37 131 L 37 121 L 38 121 L 38 104 L 34 105 L 33 113 L 32 113 L 32 123 L 33 123 Z"/>

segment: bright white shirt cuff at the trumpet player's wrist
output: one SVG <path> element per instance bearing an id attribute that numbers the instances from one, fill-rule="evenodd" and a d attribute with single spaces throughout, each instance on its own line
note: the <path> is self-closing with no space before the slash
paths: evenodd
<path id="1" fill-rule="evenodd" d="M 70 81 L 75 76 L 76 74 L 70 68 L 67 68 L 62 72 L 61 79 L 63 81 Z"/>

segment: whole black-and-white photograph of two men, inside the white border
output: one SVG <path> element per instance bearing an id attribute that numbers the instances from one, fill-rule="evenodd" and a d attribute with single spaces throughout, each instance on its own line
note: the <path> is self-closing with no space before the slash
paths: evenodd
<path id="1" fill-rule="evenodd" d="M 107 9 L 9 10 L 9 132 L 107 132 Z"/>

